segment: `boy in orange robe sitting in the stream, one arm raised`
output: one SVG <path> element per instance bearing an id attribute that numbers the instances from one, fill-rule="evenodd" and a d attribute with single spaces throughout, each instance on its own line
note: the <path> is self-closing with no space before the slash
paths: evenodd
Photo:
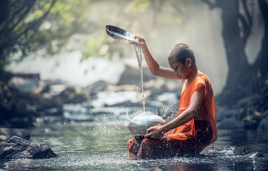
<path id="1" fill-rule="evenodd" d="M 138 38 L 145 60 L 154 76 L 179 79 L 182 84 L 178 116 L 160 127 L 147 129 L 145 136 L 128 141 L 129 159 L 197 155 L 217 140 L 215 100 L 208 77 L 200 72 L 194 53 L 186 44 L 177 44 L 169 52 L 170 68 L 164 68 L 151 55 L 145 39 Z"/>

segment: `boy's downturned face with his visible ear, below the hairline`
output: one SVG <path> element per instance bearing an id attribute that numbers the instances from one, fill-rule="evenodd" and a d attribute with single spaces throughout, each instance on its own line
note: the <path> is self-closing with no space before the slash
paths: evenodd
<path id="1" fill-rule="evenodd" d="M 186 80 L 191 74 L 192 61 L 185 60 L 185 63 L 177 62 L 176 58 L 172 58 L 168 61 L 170 68 L 174 70 L 174 74 L 181 80 Z"/>

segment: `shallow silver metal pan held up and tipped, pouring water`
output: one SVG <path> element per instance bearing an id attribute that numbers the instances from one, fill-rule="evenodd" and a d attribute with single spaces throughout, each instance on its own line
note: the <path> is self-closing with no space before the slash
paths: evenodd
<path id="1" fill-rule="evenodd" d="M 132 33 L 125 31 L 124 29 L 121 29 L 119 27 L 106 25 L 105 26 L 106 33 L 113 37 L 116 40 L 119 40 L 123 43 L 133 44 L 133 41 L 139 41 L 138 38 L 133 39 L 134 36 Z"/>

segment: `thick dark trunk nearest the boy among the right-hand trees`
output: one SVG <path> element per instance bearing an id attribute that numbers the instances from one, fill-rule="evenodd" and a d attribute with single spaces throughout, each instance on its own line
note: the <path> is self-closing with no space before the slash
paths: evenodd
<path id="1" fill-rule="evenodd" d="M 233 0 L 218 1 L 217 5 L 222 9 L 222 36 L 229 66 L 227 83 L 219 102 L 221 104 L 234 104 L 245 95 L 244 86 L 249 78 L 241 81 L 241 77 L 250 73 L 250 65 L 238 27 L 239 2 Z"/>

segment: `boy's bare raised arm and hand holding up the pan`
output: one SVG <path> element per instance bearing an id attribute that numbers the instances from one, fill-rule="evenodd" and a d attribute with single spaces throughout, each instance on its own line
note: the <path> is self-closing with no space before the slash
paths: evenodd
<path id="1" fill-rule="evenodd" d="M 135 38 L 137 37 L 139 39 L 140 42 L 140 48 L 143 51 L 144 57 L 145 57 L 145 61 L 151 71 L 151 73 L 154 76 L 160 76 L 160 77 L 164 77 L 164 78 L 170 78 L 170 79 L 178 79 L 177 76 L 175 76 L 174 71 L 171 68 L 167 68 L 167 67 L 161 67 L 159 65 L 159 63 L 155 60 L 155 58 L 151 55 L 148 46 L 145 42 L 145 39 L 138 34 L 134 34 Z"/>

